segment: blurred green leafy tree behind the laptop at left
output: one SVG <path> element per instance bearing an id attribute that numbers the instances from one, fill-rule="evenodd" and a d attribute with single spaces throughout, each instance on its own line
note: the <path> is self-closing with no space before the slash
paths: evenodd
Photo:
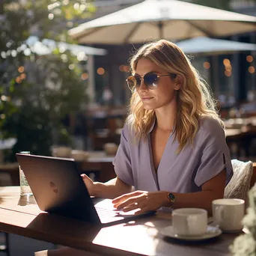
<path id="1" fill-rule="evenodd" d="M 26 40 L 75 43 L 67 30 L 94 11 L 88 0 L 1 1 L 0 135 L 17 138 L 7 160 L 22 150 L 49 155 L 54 134 L 70 143 L 61 121 L 88 102 L 82 66 L 67 49 L 37 55 Z"/>

